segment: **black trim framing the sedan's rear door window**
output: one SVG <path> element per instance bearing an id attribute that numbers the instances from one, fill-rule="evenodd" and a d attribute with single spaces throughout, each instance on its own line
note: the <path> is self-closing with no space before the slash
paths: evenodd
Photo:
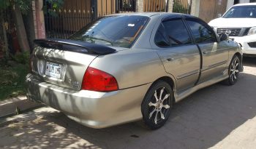
<path id="1" fill-rule="evenodd" d="M 194 41 L 195 39 L 192 38 L 192 34 L 190 33 L 189 28 L 187 28 L 187 24 L 184 22 L 184 17 L 183 17 L 182 15 L 177 16 L 177 17 L 167 16 L 167 17 L 162 18 L 161 23 L 159 24 L 159 26 L 158 26 L 158 28 L 157 28 L 157 31 L 159 30 L 160 25 L 162 25 L 162 27 L 165 29 L 165 25 L 163 25 L 162 23 L 163 23 L 163 22 L 166 22 L 166 21 L 169 21 L 169 20 L 181 20 L 181 21 L 182 21 L 182 23 L 184 24 L 184 26 L 185 26 L 185 28 L 186 28 L 186 30 L 187 30 L 187 33 L 188 33 L 188 35 L 189 35 L 189 39 L 190 39 L 191 43 L 190 43 L 190 44 L 172 45 L 172 44 L 170 44 L 170 39 L 169 39 L 168 37 L 166 37 L 166 38 L 168 39 L 168 41 L 169 41 L 168 44 L 170 44 L 170 46 L 162 47 L 162 46 L 157 45 L 157 43 L 156 43 L 156 41 L 155 41 L 155 37 L 156 37 L 156 34 L 157 34 L 157 32 L 156 32 L 156 33 L 154 34 L 154 44 L 156 44 L 157 47 L 165 48 L 165 49 L 166 49 L 166 48 L 171 48 L 171 47 L 181 47 L 181 46 L 189 46 L 189 45 L 194 45 L 194 44 L 195 44 L 195 41 Z M 165 31 L 166 31 L 166 29 L 165 29 Z"/>

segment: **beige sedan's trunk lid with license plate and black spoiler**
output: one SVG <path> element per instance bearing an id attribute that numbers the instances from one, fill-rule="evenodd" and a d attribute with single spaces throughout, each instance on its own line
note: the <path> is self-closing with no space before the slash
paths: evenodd
<path id="1" fill-rule="evenodd" d="M 69 89 L 80 90 L 83 75 L 98 55 L 116 49 L 82 41 L 37 39 L 31 58 L 32 73 L 40 80 Z"/>

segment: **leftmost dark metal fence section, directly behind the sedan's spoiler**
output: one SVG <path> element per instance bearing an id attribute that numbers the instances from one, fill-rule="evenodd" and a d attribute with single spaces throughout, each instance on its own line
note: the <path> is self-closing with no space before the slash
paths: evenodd
<path id="1" fill-rule="evenodd" d="M 67 39 L 95 19 L 95 8 L 91 1 L 69 0 L 59 9 L 53 9 L 53 6 L 45 1 L 44 7 L 45 32 L 48 38 Z"/>

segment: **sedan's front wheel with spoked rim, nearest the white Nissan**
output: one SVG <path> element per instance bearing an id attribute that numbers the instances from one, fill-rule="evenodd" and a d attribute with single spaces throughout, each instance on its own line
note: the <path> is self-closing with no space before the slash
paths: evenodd
<path id="1" fill-rule="evenodd" d="M 228 68 L 228 78 L 222 81 L 222 84 L 228 86 L 236 84 L 239 77 L 240 64 L 241 63 L 238 56 L 235 55 L 231 60 L 230 66 Z"/>

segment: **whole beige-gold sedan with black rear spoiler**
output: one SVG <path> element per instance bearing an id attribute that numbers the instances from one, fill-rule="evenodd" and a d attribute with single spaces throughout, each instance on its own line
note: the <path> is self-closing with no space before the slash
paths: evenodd
<path id="1" fill-rule="evenodd" d="M 173 103 L 219 81 L 235 84 L 242 68 L 238 44 L 191 15 L 110 15 L 67 40 L 35 43 L 28 98 L 94 128 L 143 118 L 157 129 Z"/>

